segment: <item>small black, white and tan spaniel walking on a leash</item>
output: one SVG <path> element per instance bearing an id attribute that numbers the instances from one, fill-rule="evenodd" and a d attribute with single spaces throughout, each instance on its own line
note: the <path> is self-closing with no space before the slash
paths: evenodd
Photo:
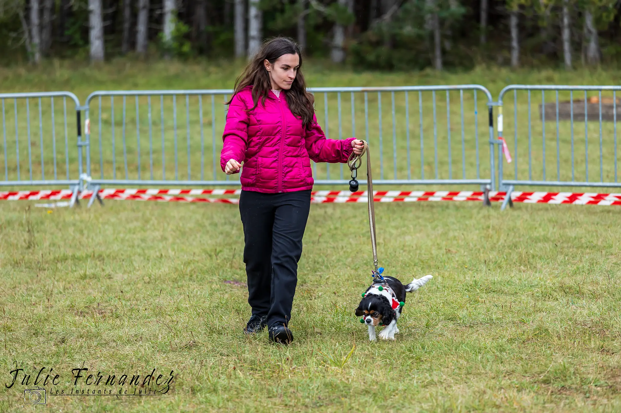
<path id="1" fill-rule="evenodd" d="M 362 317 L 360 322 L 369 327 L 369 340 L 375 340 L 375 328 L 379 324 L 386 326 L 379 333 L 379 338 L 394 340 L 394 335 L 399 333 L 397 320 L 406 303 L 406 292 L 418 290 L 432 278 L 424 276 L 407 285 L 403 285 L 395 277 L 383 277 L 383 283 L 373 282 L 356 308 L 356 316 Z"/>

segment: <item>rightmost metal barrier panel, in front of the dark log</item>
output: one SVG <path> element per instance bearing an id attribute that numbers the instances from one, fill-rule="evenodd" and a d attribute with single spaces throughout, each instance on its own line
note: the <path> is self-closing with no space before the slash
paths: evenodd
<path id="1" fill-rule="evenodd" d="M 509 85 L 502 89 L 497 130 L 499 139 L 507 133 L 503 139 L 514 152 L 514 176 L 505 178 L 499 151 L 499 190 L 507 192 L 501 209 L 512 204 L 510 193 L 516 185 L 621 187 L 617 180 L 619 90 L 619 86 L 561 85 Z M 504 102 L 510 92 L 512 99 Z M 576 128 L 578 122 L 584 127 Z M 502 141 L 497 144 L 501 149 Z M 599 180 L 593 180 L 594 175 Z"/>

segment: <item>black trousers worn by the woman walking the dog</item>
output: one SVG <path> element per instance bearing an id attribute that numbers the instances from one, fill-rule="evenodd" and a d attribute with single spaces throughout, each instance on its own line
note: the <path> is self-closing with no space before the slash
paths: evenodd
<path id="1" fill-rule="evenodd" d="M 279 194 L 242 191 L 240 195 L 248 303 L 253 315 L 267 316 L 268 328 L 291 320 L 297 263 L 310 209 L 310 190 Z"/>

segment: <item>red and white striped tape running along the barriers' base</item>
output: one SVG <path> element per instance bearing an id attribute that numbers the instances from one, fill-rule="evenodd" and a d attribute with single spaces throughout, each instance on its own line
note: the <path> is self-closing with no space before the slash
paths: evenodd
<path id="1" fill-rule="evenodd" d="M 195 198 L 195 196 L 238 195 L 240 192 L 240 189 L 101 189 L 99 194 L 102 199 L 237 204 L 237 198 Z M 79 194 L 79 198 L 90 198 L 92 194 L 92 191 L 83 191 Z M 376 202 L 483 201 L 483 192 L 481 191 L 374 191 L 373 195 Z M 356 193 L 314 191 L 312 202 L 315 204 L 364 203 L 367 201 L 366 196 L 366 191 Z M 492 202 L 500 202 L 505 196 L 506 193 L 504 192 L 489 193 L 489 199 Z M 8 201 L 39 201 L 42 199 L 60 201 L 71 199 L 71 191 L 68 189 L 48 189 L 43 191 L 0 192 L 1 199 Z M 621 194 L 515 191 L 511 193 L 511 199 L 514 202 L 530 204 L 621 205 Z"/>

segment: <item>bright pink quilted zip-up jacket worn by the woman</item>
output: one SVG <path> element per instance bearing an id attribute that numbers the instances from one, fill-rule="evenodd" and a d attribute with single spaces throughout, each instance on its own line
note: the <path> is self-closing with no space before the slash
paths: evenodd
<path id="1" fill-rule="evenodd" d="M 241 90 L 229 105 L 222 139 L 220 166 L 230 159 L 242 163 L 242 189 L 281 193 L 312 189 L 311 159 L 315 162 L 347 162 L 353 148 L 348 139 L 325 139 L 313 116 L 310 130 L 289 110 L 286 91 L 270 92 L 265 106 L 254 106 L 252 87 Z"/>

